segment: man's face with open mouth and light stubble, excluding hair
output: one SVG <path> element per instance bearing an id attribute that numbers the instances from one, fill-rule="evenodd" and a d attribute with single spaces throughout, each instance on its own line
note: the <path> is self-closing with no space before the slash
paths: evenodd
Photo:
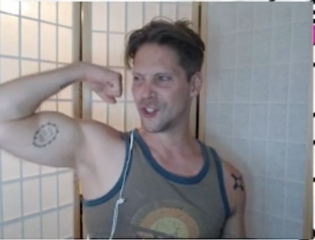
<path id="1" fill-rule="evenodd" d="M 146 131 L 162 132 L 188 121 L 190 84 L 174 50 L 144 44 L 134 58 L 132 75 L 132 94 Z"/>

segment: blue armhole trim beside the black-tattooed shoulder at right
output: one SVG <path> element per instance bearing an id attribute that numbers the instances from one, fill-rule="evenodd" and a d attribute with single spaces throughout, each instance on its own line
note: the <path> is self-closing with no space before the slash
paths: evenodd
<path id="1" fill-rule="evenodd" d="M 231 216 L 231 210 L 230 210 L 230 206 L 229 206 L 229 201 L 228 201 L 228 196 L 227 196 L 227 192 L 226 192 L 226 187 L 224 186 L 222 164 L 221 164 L 221 161 L 219 159 L 219 156 L 218 156 L 217 152 L 213 148 L 211 148 L 211 152 L 212 152 L 212 155 L 213 155 L 213 158 L 214 158 L 214 162 L 215 162 L 215 165 L 216 165 L 216 169 L 217 169 L 219 186 L 220 186 L 222 201 L 223 201 L 224 210 L 225 210 L 225 213 L 226 213 L 226 220 L 227 220 Z"/>

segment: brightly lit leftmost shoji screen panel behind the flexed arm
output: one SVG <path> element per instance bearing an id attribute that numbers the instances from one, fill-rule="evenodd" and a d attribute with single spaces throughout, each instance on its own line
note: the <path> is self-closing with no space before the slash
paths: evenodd
<path id="1" fill-rule="evenodd" d="M 79 60 L 79 5 L 70 2 L 0 3 L 0 82 Z M 43 80 L 44 81 L 44 80 Z M 78 116 L 78 86 L 38 111 Z M 0 152 L 0 238 L 73 238 L 74 174 Z"/>

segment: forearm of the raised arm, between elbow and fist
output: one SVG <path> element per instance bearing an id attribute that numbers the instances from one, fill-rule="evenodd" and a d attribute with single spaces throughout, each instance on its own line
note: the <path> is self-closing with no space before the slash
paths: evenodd
<path id="1" fill-rule="evenodd" d="M 1 84 L 0 123 L 32 115 L 41 102 L 82 78 L 82 67 L 75 63 Z"/>

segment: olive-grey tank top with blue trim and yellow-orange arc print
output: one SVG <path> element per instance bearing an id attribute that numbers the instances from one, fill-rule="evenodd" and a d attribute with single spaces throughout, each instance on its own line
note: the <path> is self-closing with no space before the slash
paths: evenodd
<path id="1" fill-rule="evenodd" d="M 129 152 L 130 132 L 122 134 Z M 183 177 L 163 169 L 137 130 L 127 178 L 125 202 L 119 205 L 114 238 L 218 238 L 230 216 L 221 161 L 216 151 L 198 141 L 204 157 L 201 171 Z M 124 172 L 124 171 L 123 171 Z M 108 238 L 123 174 L 95 200 L 82 200 L 83 225 L 90 238 Z"/>

